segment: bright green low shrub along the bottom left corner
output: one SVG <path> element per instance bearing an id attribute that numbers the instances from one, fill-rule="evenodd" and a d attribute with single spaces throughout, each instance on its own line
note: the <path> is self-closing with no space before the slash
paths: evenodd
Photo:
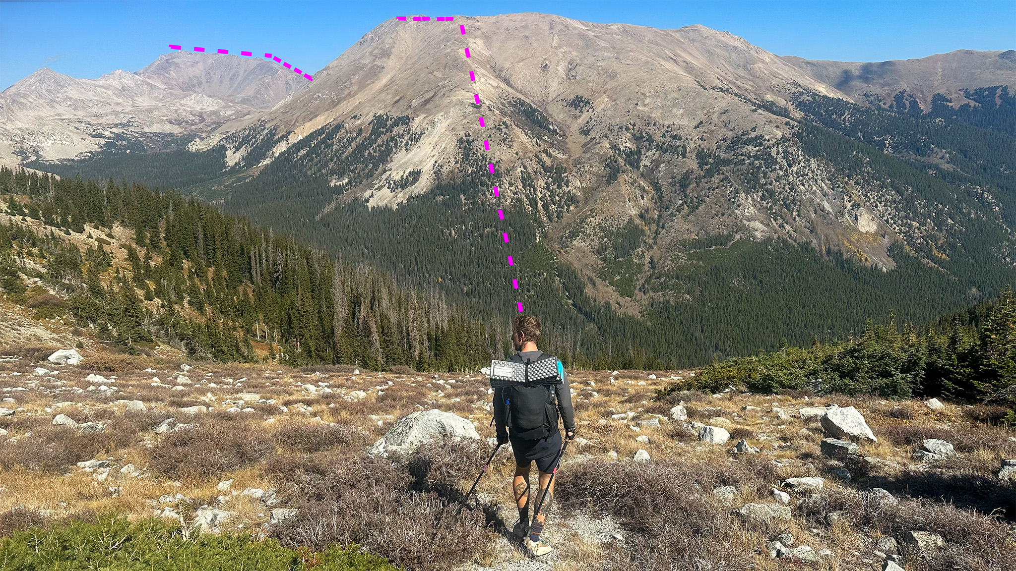
<path id="1" fill-rule="evenodd" d="M 247 534 L 185 536 L 155 518 L 130 522 L 107 515 L 93 523 L 71 521 L 33 527 L 0 540 L 0 569 L 21 571 L 395 571 L 358 546 L 322 553 L 282 548 Z"/>

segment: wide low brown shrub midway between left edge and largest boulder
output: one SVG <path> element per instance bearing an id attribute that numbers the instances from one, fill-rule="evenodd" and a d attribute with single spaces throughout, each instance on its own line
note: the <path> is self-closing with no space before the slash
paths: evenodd
<path id="1" fill-rule="evenodd" d="M 271 457 L 271 438 L 238 420 L 200 419 L 148 449 L 148 467 L 170 478 L 208 477 Z"/>

